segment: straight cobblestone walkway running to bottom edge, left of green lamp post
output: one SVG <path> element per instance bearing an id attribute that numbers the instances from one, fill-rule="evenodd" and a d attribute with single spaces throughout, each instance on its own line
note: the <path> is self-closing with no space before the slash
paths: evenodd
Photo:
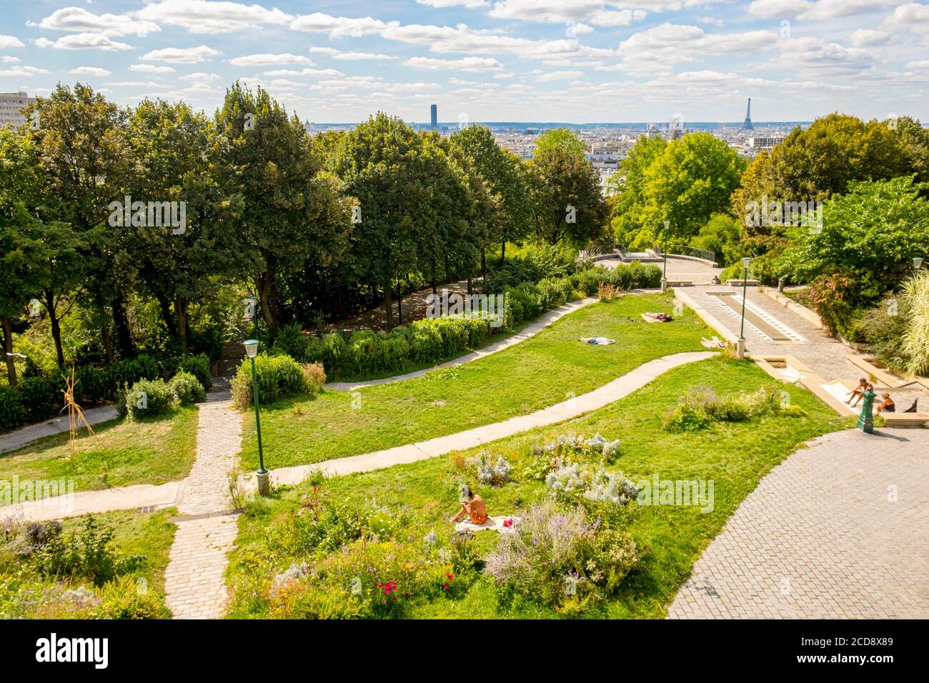
<path id="1" fill-rule="evenodd" d="M 226 607 L 227 554 L 235 543 L 228 475 L 242 443 L 242 416 L 211 394 L 201 404 L 197 459 L 177 497 L 177 532 L 164 572 L 165 602 L 175 619 L 216 619 Z M 188 519 L 185 519 L 188 518 Z"/>

